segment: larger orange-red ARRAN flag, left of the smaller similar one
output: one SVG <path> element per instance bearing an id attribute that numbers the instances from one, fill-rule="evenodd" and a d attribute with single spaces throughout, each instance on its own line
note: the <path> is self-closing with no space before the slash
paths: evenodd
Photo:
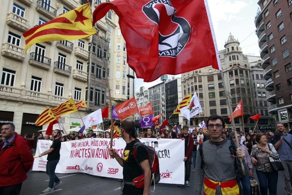
<path id="1" fill-rule="evenodd" d="M 135 97 L 128 99 L 115 106 L 119 120 L 127 118 L 135 113 L 138 113 L 138 106 Z"/>

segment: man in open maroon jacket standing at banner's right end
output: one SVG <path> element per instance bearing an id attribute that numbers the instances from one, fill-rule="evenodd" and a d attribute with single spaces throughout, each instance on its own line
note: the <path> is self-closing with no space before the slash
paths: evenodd
<path id="1" fill-rule="evenodd" d="M 194 140 L 193 137 L 189 134 L 189 126 L 183 126 L 183 133 L 180 134 L 180 138 L 185 141 L 185 186 L 190 186 L 190 175 L 191 175 L 191 162 L 193 157 L 193 147 Z M 178 186 L 183 186 L 184 184 L 179 184 Z"/>

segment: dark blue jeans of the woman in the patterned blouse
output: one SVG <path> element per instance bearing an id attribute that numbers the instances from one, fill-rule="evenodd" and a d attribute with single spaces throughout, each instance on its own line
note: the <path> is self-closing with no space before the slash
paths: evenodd
<path id="1" fill-rule="evenodd" d="M 267 195 L 268 189 L 270 195 L 277 195 L 278 171 L 262 172 L 256 170 L 256 175 L 260 183 L 261 195 Z"/>

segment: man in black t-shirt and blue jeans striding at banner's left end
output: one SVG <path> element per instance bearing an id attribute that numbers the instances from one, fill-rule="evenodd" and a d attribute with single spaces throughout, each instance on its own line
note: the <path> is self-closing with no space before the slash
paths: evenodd
<path id="1" fill-rule="evenodd" d="M 61 149 L 61 139 L 59 139 L 60 135 L 61 135 L 60 130 L 54 130 L 53 131 L 54 141 L 50 149 L 39 154 L 39 157 L 48 155 L 47 165 L 46 165 L 46 174 L 50 177 L 50 181 L 49 181 L 49 187 L 43 190 L 43 193 L 54 191 L 54 187 L 62 183 L 62 181 L 55 174 L 56 166 L 60 161 L 60 149 Z"/>

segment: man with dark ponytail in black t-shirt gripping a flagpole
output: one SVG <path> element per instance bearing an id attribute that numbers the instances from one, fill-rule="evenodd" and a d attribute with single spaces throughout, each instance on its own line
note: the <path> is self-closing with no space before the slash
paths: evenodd
<path id="1" fill-rule="evenodd" d="M 147 150 L 144 147 L 139 146 L 136 147 L 136 151 L 134 151 L 135 144 L 140 141 L 137 139 L 135 123 L 133 120 L 126 119 L 121 122 L 121 136 L 126 141 L 123 158 L 121 158 L 112 148 L 109 149 L 109 154 L 123 167 L 123 180 L 125 183 L 123 195 L 148 195 L 151 169 L 147 157 Z M 144 187 L 137 188 L 133 186 L 132 184 L 135 181 L 135 178 L 143 174 Z"/>

